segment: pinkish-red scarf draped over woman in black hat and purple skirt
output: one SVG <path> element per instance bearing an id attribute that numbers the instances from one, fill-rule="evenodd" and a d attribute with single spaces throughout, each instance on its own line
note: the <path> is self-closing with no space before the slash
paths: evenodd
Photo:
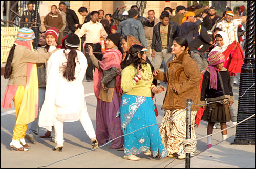
<path id="1" fill-rule="evenodd" d="M 99 66 L 102 70 L 108 70 L 112 67 L 121 69 L 120 63 L 122 61 L 122 53 L 117 49 L 109 49 L 103 52 L 103 60 L 99 61 Z M 94 93 L 97 99 L 99 99 L 99 91 L 101 89 L 101 78 L 103 72 L 95 68 L 93 77 Z M 122 94 L 121 88 L 121 76 L 116 76 L 116 90 L 119 94 Z"/>

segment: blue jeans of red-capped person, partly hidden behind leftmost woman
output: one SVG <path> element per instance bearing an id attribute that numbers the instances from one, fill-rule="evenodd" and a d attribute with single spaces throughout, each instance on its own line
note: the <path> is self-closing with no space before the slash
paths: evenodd
<path id="1" fill-rule="evenodd" d="M 38 94 L 38 116 L 35 119 L 35 121 L 31 122 L 31 127 L 28 132 L 29 134 L 32 134 L 34 138 L 36 138 L 39 134 L 38 120 L 39 120 L 42 104 L 44 104 L 44 101 L 45 101 L 46 87 L 39 87 L 38 93 L 39 93 Z M 52 127 L 51 137 L 52 138 L 55 137 L 54 127 Z"/>

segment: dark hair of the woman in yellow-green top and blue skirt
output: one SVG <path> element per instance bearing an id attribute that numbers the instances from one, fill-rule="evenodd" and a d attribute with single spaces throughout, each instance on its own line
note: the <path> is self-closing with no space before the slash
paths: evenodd
<path id="1" fill-rule="evenodd" d="M 126 62 L 123 64 L 123 68 L 133 65 L 135 68 L 138 67 L 139 64 L 141 64 L 141 58 L 139 58 L 139 53 L 140 56 L 142 57 L 145 51 L 141 51 L 144 47 L 141 45 L 132 45 L 130 49 L 127 52 L 127 55 L 125 57 Z"/>

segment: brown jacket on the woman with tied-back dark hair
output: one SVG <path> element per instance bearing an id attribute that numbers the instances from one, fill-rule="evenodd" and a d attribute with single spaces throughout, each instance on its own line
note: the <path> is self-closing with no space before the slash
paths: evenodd
<path id="1" fill-rule="evenodd" d="M 154 79 L 168 82 L 162 109 L 185 109 L 187 99 L 192 99 L 194 104 L 200 104 L 201 73 L 187 51 L 168 63 L 167 75 L 159 71 Z M 174 86 L 177 93 L 173 90 Z M 199 105 L 192 105 L 192 110 L 199 110 Z"/>

